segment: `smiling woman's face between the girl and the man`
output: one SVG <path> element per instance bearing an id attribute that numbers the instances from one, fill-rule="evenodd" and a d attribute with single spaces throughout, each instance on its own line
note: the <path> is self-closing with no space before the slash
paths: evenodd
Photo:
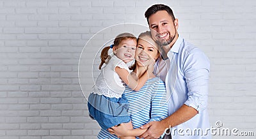
<path id="1" fill-rule="evenodd" d="M 135 52 L 135 59 L 138 66 L 148 66 L 150 63 L 156 61 L 159 55 L 157 48 L 148 43 L 148 41 L 143 39 L 138 40 Z"/>

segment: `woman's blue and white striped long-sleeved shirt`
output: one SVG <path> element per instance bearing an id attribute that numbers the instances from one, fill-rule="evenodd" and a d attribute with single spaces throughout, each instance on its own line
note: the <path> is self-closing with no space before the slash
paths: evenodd
<path id="1" fill-rule="evenodd" d="M 149 79 L 140 91 L 125 87 L 124 93 L 129 101 L 128 113 L 134 128 L 140 128 L 150 121 L 161 121 L 168 116 L 165 85 L 160 78 Z M 98 138 L 117 137 L 101 129 Z"/>

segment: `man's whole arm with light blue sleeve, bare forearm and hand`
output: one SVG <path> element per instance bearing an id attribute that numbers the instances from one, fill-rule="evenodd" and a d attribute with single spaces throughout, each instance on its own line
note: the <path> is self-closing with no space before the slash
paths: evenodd
<path id="1" fill-rule="evenodd" d="M 160 122 L 150 122 L 141 137 L 158 138 L 164 129 L 182 124 L 207 108 L 209 60 L 198 50 L 189 53 L 184 62 L 184 78 L 188 87 L 188 99 L 172 115 Z M 142 128 L 142 129 L 143 129 Z"/>

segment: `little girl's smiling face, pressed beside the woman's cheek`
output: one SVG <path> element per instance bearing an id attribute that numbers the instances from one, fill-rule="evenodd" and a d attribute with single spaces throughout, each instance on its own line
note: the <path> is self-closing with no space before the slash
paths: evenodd
<path id="1" fill-rule="evenodd" d="M 116 57 L 127 63 L 134 59 L 136 45 L 135 39 L 122 40 L 118 46 L 113 47 L 113 52 Z"/>

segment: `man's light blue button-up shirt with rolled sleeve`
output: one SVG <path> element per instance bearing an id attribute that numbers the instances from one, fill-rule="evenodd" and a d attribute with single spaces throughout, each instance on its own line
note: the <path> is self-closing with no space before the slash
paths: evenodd
<path id="1" fill-rule="evenodd" d="M 207 131 L 210 128 L 207 112 L 209 59 L 180 36 L 167 56 L 165 61 L 158 59 L 154 72 L 166 84 L 168 115 L 184 104 L 198 111 L 189 121 L 172 127 L 172 138 L 211 138 L 211 131 Z"/>

